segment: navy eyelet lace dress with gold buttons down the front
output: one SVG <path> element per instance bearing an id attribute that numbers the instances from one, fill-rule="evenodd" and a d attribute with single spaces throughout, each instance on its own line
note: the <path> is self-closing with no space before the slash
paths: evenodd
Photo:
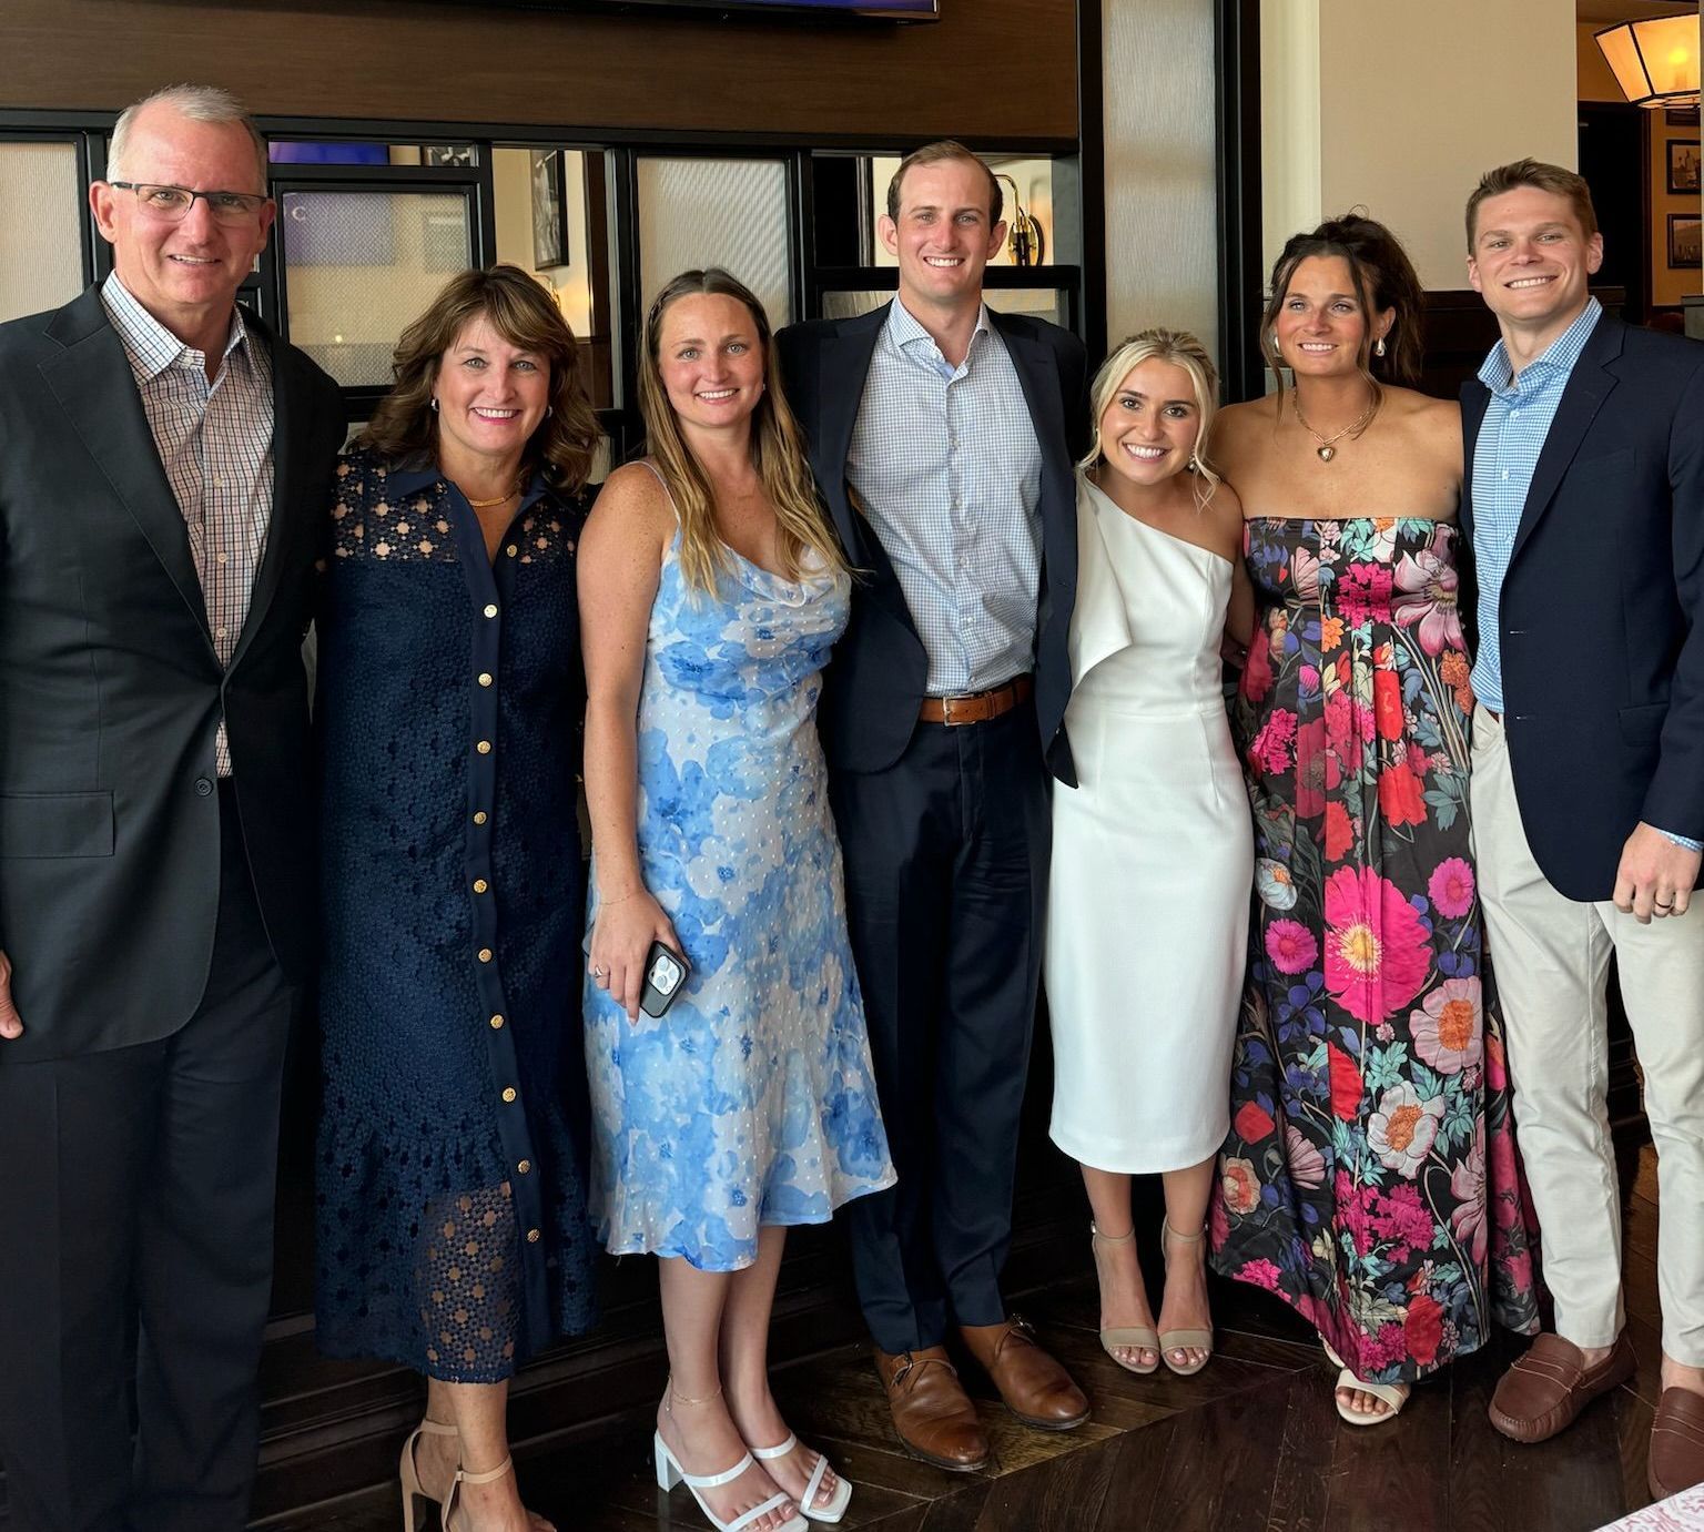
<path id="1" fill-rule="evenodd" d="M 574 547 L 339 465 L 320 622 L 319 1345 L 494 1382 L 593 1317 Z"/>

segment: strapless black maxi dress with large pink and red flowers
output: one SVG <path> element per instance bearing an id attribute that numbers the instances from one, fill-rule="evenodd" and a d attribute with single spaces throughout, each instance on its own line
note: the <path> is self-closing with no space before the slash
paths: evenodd
<path id="1" fill-rule="evenodd" d="M 1537 1329 L 1467 821 L 1457 528 L 1256 518 L 1249 985 L 1213 1263 L 1409 1382 Z"/>

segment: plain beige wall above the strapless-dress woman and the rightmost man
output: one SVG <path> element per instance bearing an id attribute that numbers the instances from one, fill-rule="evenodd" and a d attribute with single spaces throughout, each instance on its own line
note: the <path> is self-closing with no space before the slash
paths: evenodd
<path id="1" fill-rule="evenodd" d="M 1578 158 L 1573 0 L 1263 0 L 1261 27 L 1268 264 L 1365 206 L 1428 288 L 1462 288 L 1479 174 Z"/>

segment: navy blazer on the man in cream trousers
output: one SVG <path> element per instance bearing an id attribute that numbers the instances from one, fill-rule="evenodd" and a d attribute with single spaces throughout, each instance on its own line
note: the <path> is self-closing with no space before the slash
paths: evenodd
<path id="1" fill-rule="evenodd" d="M 1469 535 L 1489 399 L 1462 385 Z M 1641 820 L 1704 840 L 1701 619 L 1704 346 L 1605 315 L 1539 455 L 1498 605 L 1520 818 L 1568 898 L 1614 893 Z"/>

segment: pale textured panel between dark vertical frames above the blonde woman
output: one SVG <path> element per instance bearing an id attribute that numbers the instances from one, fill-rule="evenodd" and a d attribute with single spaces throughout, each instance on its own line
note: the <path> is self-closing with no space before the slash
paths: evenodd
<path id="1" fill-rule="evenodd" d="M 1092 0 L 1089 0 L 1092 3 Z M 1218 346 L 1210 0 L 1104 0 L 1106 324 Z"/>

